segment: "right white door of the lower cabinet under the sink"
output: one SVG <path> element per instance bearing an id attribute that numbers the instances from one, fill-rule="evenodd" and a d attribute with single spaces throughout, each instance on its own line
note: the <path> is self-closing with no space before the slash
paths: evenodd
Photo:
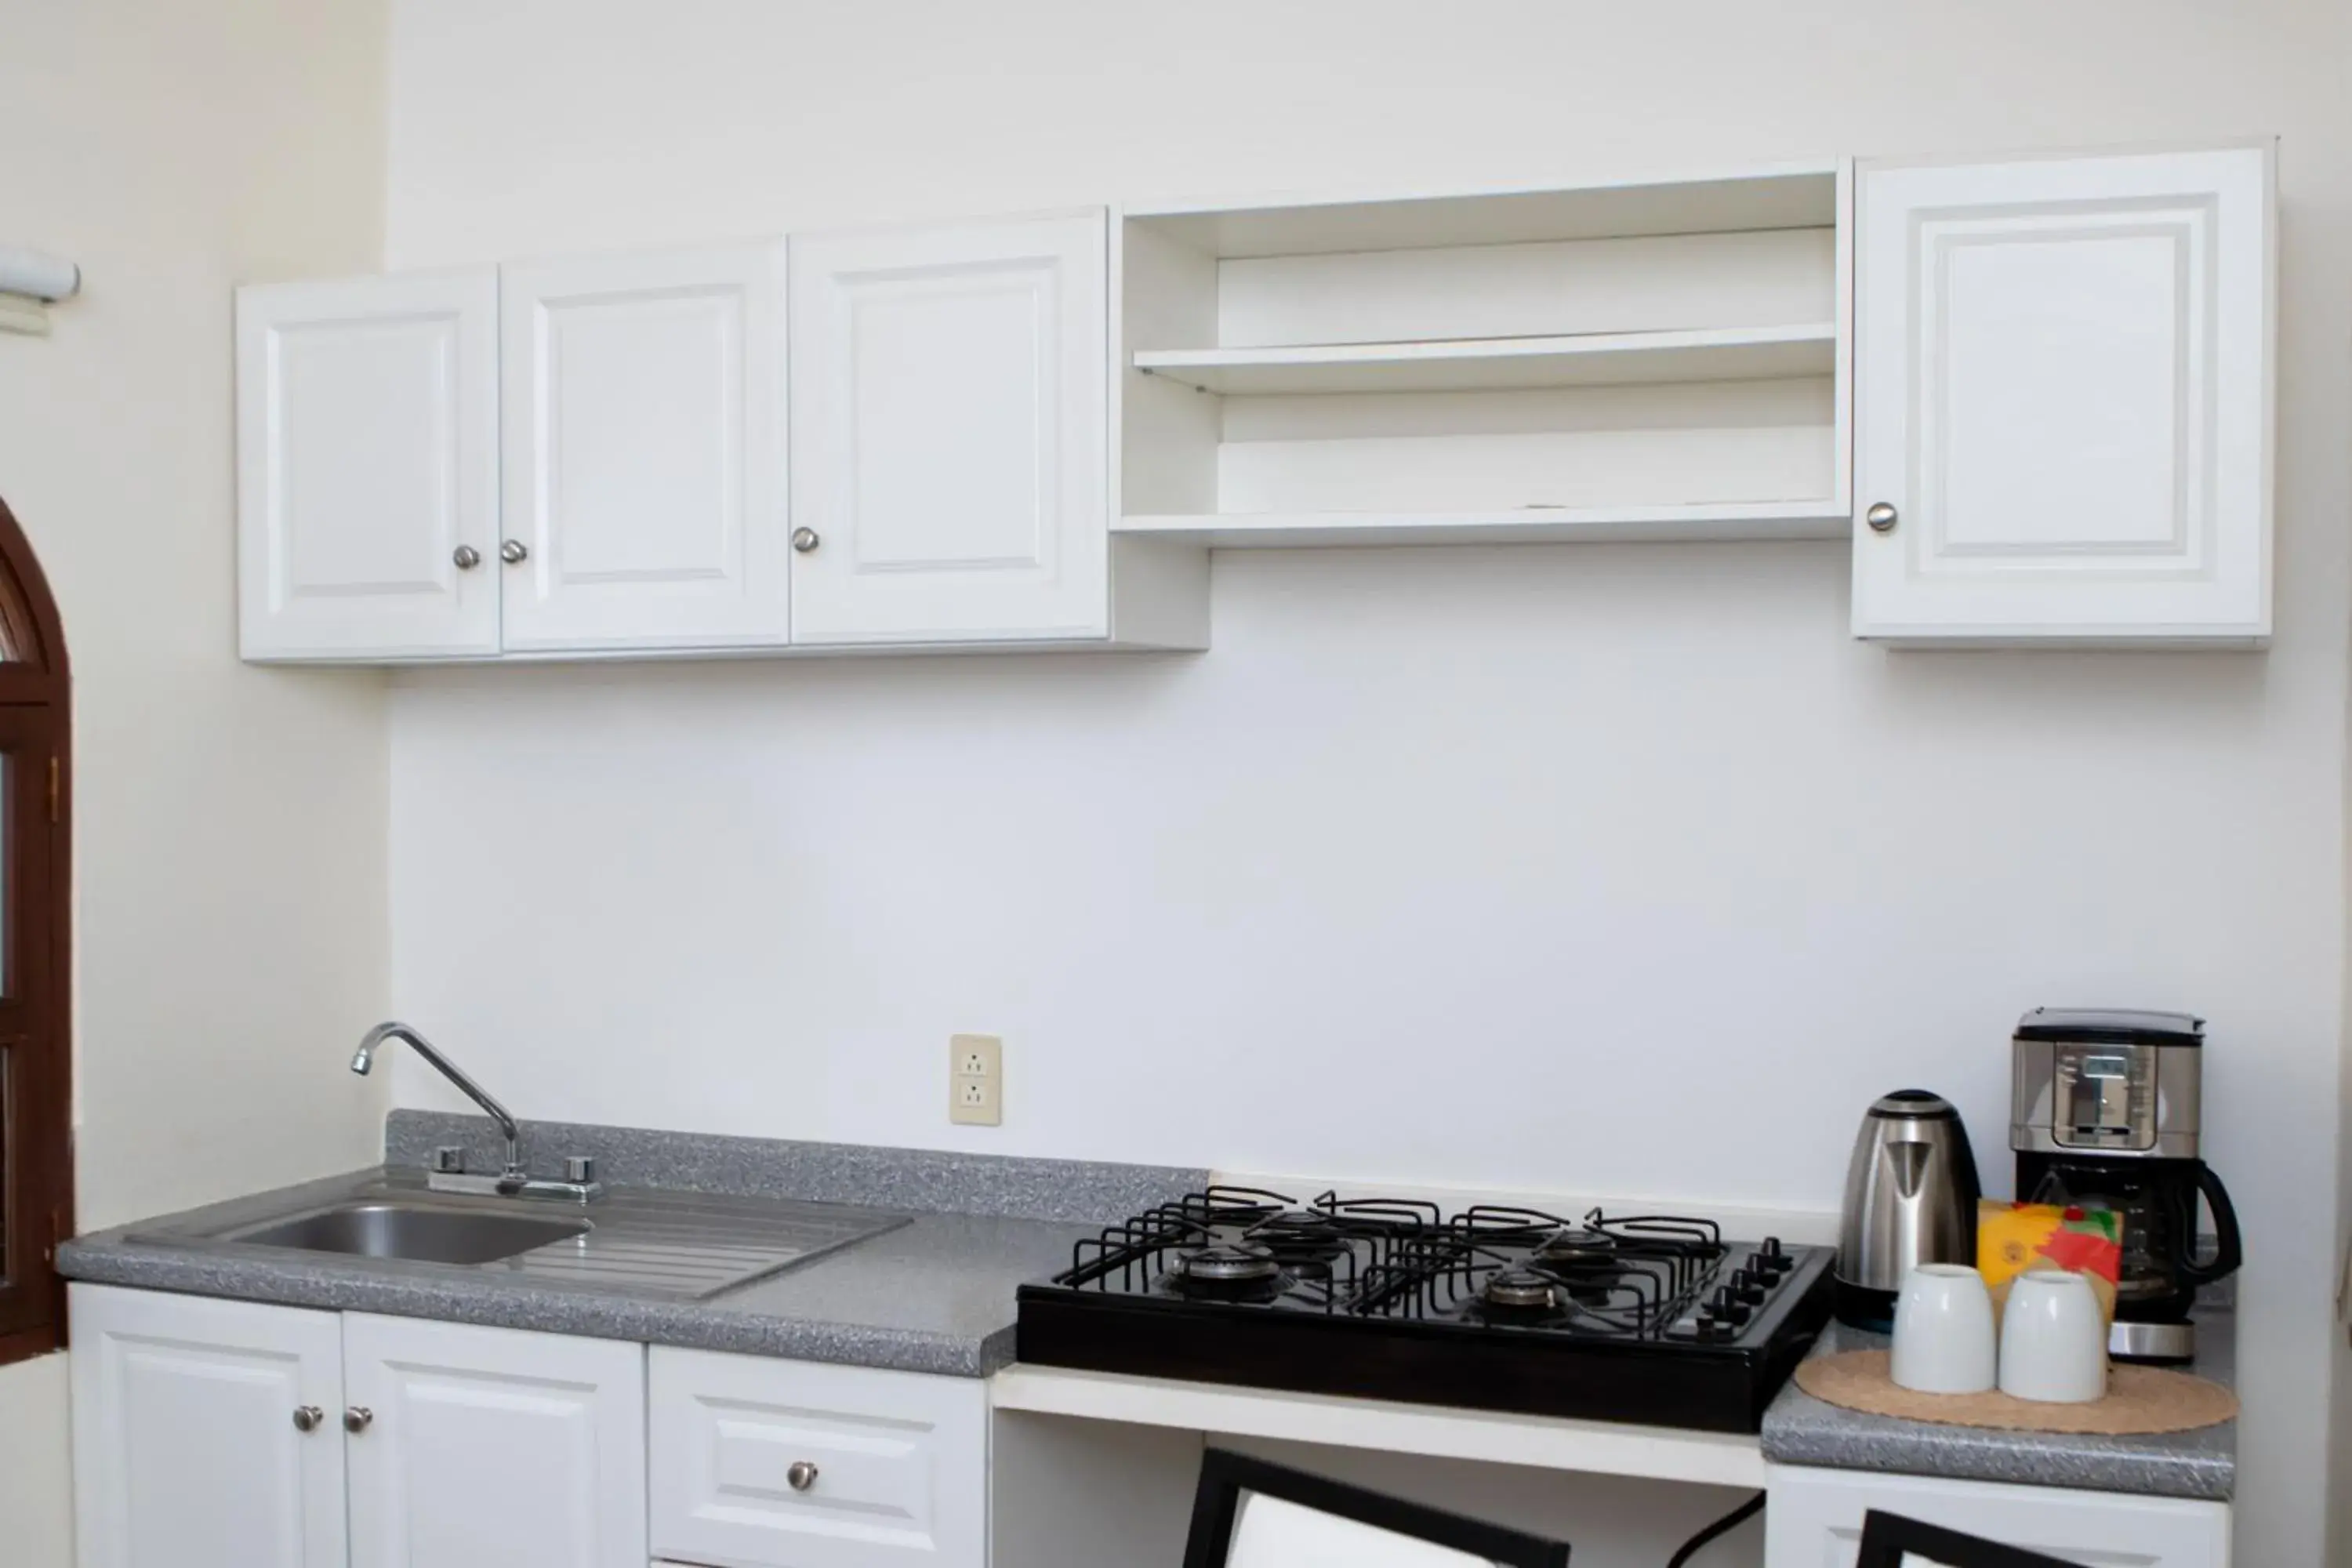
<path id="1" fill-rule="evenodd" d="M 353 1312 L 343 1378 L 353 1568 L 644 1568 L 642 1345 Z"/>

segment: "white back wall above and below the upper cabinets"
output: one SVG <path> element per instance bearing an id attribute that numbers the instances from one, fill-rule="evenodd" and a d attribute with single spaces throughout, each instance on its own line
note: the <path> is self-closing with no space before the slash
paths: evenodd
<path id="1" fill-rule="evenodd" d="M 2286 136 L 2267 656 L 1891 656 L 1837 548 L 1733 545 L 1228 555 L 1200 658 L 428 672 L 397 1004 L 543 1117 L 1813 1208 L 1910 1081 L 2002 1185 L 2025 1006 L 2201 1009 L 2241 1556 L 2314 1563 L 2347 68 L 2324 0 L 395 0 L 402 266 Z M 1007 1037 L 1000 1131 L 946 1126 L 953 1030 Z"/>

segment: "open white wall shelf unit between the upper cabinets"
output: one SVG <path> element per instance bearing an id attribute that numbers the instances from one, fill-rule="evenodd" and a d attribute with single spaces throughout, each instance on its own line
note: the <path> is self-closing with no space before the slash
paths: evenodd
<path id="1" fill-rule="evenodd" d="M 1844 167 L 1129 209 L 1120 534 L 1839 538 Z"/>

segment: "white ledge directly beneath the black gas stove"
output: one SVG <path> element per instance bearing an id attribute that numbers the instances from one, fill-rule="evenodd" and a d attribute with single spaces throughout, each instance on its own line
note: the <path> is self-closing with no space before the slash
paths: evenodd
<path id="1" fill-rule="evenodd" d="M 1705 1486 L 1764 1486 L 1755 1436 L 1682 1432 L 1555 1415 L 1454 1410 L 1385 1399 L 1279 1394 L 1169 1378 L 1009 1366 L 988 1382 L 997 1410 L 1230 1432 L 1449 1460 L 1538 1465 L 1604 1476 L 1658 1476 Z"/>

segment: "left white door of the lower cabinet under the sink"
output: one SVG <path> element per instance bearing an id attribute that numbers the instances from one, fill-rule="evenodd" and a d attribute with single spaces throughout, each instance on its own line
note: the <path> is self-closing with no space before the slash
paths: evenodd
<path id="1" fill-rule="evenodd" d="M 346 1561 L 336 1314 L 113 1286 L 71 1314 L 80 1568 Z"/>

